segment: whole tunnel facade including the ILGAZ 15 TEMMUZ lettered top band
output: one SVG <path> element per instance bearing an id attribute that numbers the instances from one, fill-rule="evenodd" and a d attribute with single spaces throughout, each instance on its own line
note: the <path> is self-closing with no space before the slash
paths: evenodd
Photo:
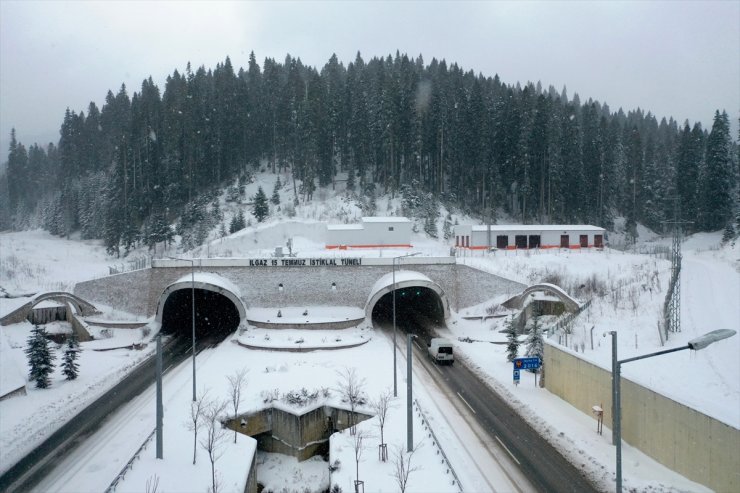
<path id="1" fill-rule="evenodd" d="M 239 306 L 245 307 L 247 319 L 249 306 L 276 310 L 285 306 L 353 306 L 370 315 L 379 302 L 385 302 L 383 295 L 392 289 L 392 261 L 392 258 L 347 257 L 197 259 L 196 300 L 207 292 L 216 294 L 216 286 L 218 290 L 232 286 L 238 293 L 223 291 L 222 298 L 238 312 L 240 320 L 244 320 L 244 313 Z M 185 264 L 177 260 L 155 260 L 149 269 L 78 283 L 75 293 L 135 315 L 162 317 L 169 298 L 190 296 L 190 265 Z M 512 296 L 524 289 L 522 284 L 457 265 L 454 257 L 410 257 L 400 267 L 396 274 L 401 284 L 397 287 L 418 286 L 443 318 L 449 316 L 450 310 L 495 296 Z M 399 278 L 399 272 L 409 274 Z M 222 279 L 216 282 L 219 278 Z M 470 289 L 471 286 L 475 289 Z"/>

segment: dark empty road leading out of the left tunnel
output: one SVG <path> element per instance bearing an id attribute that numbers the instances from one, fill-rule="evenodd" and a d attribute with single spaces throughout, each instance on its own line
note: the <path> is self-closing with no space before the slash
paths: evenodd
<path id="1" fill-rule="evenodd" d="M 163 348 L 163 367 L 177 365 L 190 355 L 190 340 L 175 338 Z M 155 378 L 155 358 L 139 365 L 100 399 L 83 409 L 40 446 L 0 476 L 0 491 L 32 491 L 58 463 L 88 437 L 107 425 L 108 417 L 150 387 Z M 151 431 L 151 430 L 148 430 Z M 147 431 L 147 433 L 148 433 Z"/>

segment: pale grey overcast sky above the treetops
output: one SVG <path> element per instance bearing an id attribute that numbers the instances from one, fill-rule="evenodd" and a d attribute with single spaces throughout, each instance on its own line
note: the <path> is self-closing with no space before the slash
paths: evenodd
<path id="1" fill-rule="evenodd" d="M 565 85 L 612 111 L 711 128 L 740 114 L 740 1 L 70 2 L 0 0 L 0 159 L 10 129 L 26 146 L 57 142 L 65 108 L 102 107 L 174 69 L 236 69 L 254 51 L 320 68 L 396 50 L 457 62 L 507 84 Z"/>

